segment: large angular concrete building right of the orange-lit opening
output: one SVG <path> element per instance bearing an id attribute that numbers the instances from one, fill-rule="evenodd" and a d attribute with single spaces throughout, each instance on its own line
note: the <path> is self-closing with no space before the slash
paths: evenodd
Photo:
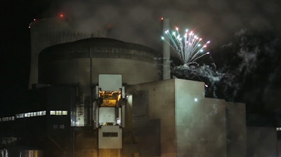
<path id="1" fill-rule="evenodd" d="M 161 156 L 245 156 L 244 104 L 204 97 L 203 82 L 178 78 L 126 92 L 132 95 L 132 121 L 137 114 L 145 117 L 142 123 L 159 119 Z"/>

